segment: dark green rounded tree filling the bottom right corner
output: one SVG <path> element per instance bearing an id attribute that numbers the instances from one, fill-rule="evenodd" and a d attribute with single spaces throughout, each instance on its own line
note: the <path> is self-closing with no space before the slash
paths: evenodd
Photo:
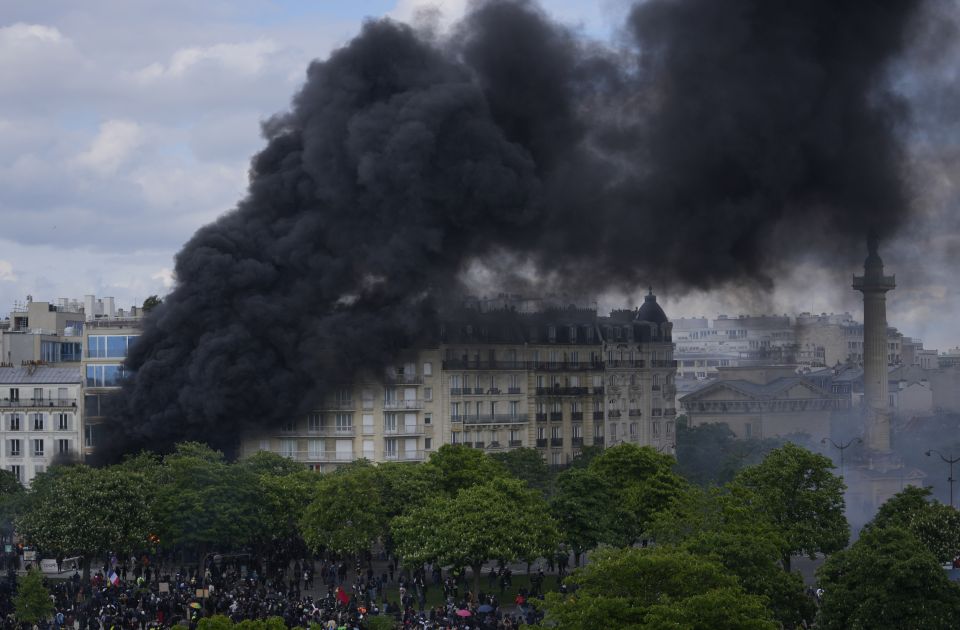
<path id="1" fill-rule="evenodd" d="M 825 630 L 960 627 L 960 587 L 932 553 L 898 527 L 874 527 L 817 571 Z"/>

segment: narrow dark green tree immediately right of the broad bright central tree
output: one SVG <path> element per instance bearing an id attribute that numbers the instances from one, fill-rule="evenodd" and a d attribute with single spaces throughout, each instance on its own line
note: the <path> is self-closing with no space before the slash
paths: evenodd
<path id="1" fill-rule="evenodd" d="M 570 468 L 557 476 L 550 511 L 560 528 L 560 540 L 570 545 L 577 566 L 584 552 L 611 538 L 610 506 L 615 503 L 613 488 L 585 468 Z"/>

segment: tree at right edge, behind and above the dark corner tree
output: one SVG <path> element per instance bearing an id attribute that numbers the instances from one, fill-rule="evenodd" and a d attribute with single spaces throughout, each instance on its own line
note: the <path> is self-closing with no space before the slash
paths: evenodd
<path id="1" fill-rule="evenodd" d="M 952 562 L 960 556 L 960 512 L 930 496 L 930 488 L 904 488 L 880 506 L 867 528 L 902 527 L 939 562 Z"/>

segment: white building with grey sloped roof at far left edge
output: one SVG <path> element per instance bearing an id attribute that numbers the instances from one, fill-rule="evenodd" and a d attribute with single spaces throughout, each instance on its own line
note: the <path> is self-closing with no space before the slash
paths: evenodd
<path id="1" fill-rule="evenodd" d="M 24 484 L 60 458 L 79 456 L 79 368 L 0 367 L 0 467 Z"/>

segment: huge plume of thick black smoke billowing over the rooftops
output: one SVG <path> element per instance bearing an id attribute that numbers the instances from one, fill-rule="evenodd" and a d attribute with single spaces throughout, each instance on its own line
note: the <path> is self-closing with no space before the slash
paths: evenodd
<path id="1" fill-rule="evenodd" d="M 304 413 L 432 330 L 476 260 L 679 290 L 769 282 L 784 230 L 860 256 L 908 210 L 885 85 L 918 5 L 648 0 L 616 50 L 519 1 L 441 42 L 367 23 L 178 254 L 98 452 L 229 447 Z"/>

